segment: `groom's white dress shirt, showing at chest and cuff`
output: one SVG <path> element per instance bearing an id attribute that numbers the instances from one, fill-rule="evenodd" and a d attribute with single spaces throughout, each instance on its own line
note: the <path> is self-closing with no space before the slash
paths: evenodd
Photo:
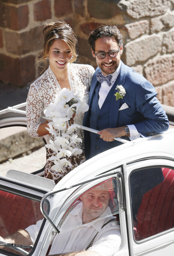
<path id="1" fill-rule="evenodd" d="M 108 86 L 106 81 L 103 81 L 103 83 L 100 83 L 99 100 L 98 100 L 98 105 L 99 105 L 100 109 L 101 109 L 101 107 L 102 107 L 110 89 L 112 88 L 112 86 L 115 83 L 118 75 L 120 74 L 120 70 L 121 70 L 121 61 L 119 63 L 118 68 L 116 69 L 116 71 L 112 74 L 111 85 Z M 101 74 L 102 74 L 102 71 L 101 71 Z M 130 131 L 130 136 L 129 136 L 130 140 L 135 140 L 137 138 L 140 138 L 140 134 L 138 133 L 137 128 L 135 127 L 135 125 L 127 125 L 127 126 L 129 127 L 129 131 Z"/>

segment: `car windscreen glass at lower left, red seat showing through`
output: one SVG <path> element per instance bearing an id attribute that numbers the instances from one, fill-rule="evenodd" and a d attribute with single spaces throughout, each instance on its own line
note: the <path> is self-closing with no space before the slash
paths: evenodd
<path id="1" fill-rule="evenodd" d="M 16 237 L 18 237 L 19 230 L 25 230 L 36 223 L 39 223 L 39 226 L 41 226 L 44 218 L 40 210 L 40 202 L 1 190 L 0 202 L 1 244 L 3 243 L 3 239 L 7 236 L 13 236 L 14 233 L 16 233 Z M 32 247 L 34 246 L 34 243 L 35 242 L 31 245 Z M 22 250 L 17 248 L 19 251 L 16 251 L 15 246 L 4 246 L 1 250 L 10 251 L 19 255 L 26 255 L 32 251 L 32 248 L 27 244 L 27 241 L 24 241 L 23 244 L 21 244 L 21 240 L 18 239 L 15 241 L 15 244 L 27 245 L 28 247 L 24 247 Z"/>

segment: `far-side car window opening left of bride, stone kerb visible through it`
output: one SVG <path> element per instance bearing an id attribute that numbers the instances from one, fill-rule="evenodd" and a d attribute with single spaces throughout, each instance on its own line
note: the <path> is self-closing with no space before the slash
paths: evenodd
<path id="1" fill-rule="evenodd" d="M 32 138 L 23 126 L 0 128 L 0 175 L 10 169 L 33 173 L 44 170 L 46 147 L 41 138 Z"/>

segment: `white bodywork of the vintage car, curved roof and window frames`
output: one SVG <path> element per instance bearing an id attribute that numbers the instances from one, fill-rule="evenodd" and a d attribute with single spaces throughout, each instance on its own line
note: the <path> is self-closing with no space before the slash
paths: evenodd
<path id="1" fill-rule="evenodd" d="M 14 180 L 14 177 L 0 176 L 0 188 L 4 191 L 11 191 L 11 193 L 18 191 L 18 195 L 21 194 L 24 197 L 27 193 L 28 198 L 37 198 L 41 202 L 42 212 L 44 212 L 45 200 L 48 199 L 51 205 L 49 218 L 57 226 L 64 213 L 80 194 L 106 179 L 118 177 L 117 172 L 121 172 L 123 176 L 119 176 L 121 184 L 119 196 L 123 202 L 119 209 L 119 219 L 122 243 L 119 251 L 113 256 L 173 256 L 174 227 L 140 241 L 134 237 L 129 177 L 133 170 L 153 166 L 174 170 L 174 128 L 151 137 L 130 141 L 96 155 L 64 176 L 52 189 L 30 184 L 32 179 L 30 174 L 25 182 L 21 181 L 20 177 Z M 51 194 L 53 196 L 50 196 Z M 174 200 L 171 200 L 171 205 L 174 207 Z M 45 212 L 44 216 L 48 217 Z M 35 250 L 32 250 L 31 254 L 33 256 L 46 255 L 55 232 L 55 228 L 46 220 Z M 0 255 L 12 254 L 0 249 Z"/>

